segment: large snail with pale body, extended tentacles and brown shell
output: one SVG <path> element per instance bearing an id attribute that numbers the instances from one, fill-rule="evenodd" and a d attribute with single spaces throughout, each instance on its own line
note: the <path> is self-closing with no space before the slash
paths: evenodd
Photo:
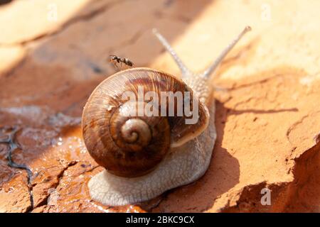
<path id="1" fill-rule="evenodd" d="M 218 59 L 199 74 L 188 70 L 164 36 L 154 29 L 154 35 L 181 70 L 181 79 L 159 70 L 136 67 L 107 77 L 95 88 L 82 113 L 85 146 L 97 164 L 105 167 L 88 182 L 92 199 L 110 206 L 136 204 L 204 175 L 216 139 L 215 100 L 210 79 L 225 55 L 250 29 L 247 26 Z M 186 123 L 190 120 L 186 113 L 137 116 L 141 104 L 147 102 L 122 98 L 127 91 L 139 96 L 139 87 L 155 94 L 190 94 L 188 103 L 197 107 L 196 123 Z M 180 107 L 174 104 L 174 111 Z"/>

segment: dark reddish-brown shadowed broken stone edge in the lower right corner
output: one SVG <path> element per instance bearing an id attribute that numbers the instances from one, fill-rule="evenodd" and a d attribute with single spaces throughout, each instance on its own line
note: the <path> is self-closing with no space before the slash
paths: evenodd
<path id="1" fill-rule="evenodd" d="M 320 141 L 318 141 L 312 148 L 305 150 L 300 157 L 292 158 L 292 160 L 294 160 L 291 171 L 293 178 L 289 182 L 264 181 L 242 187 L 235 195 L 229 194 L 227 196 L 231 198 L 237 197 L 235 200 L 235 205 L 230 204 L 231 199 L 229 199 L 228 203 L 226 203 L 225 206 L 220 209 L 220 212 L 286 212 L 288 207 L 293 206 L 299 197 L 299 189 L 302 189 L 304 185 L 307 184 L 311 175 L 314 174 L 311 171 L 312 168 L 309 171 L 306 171 L 306 168 L 310 165 L 317 165 L 318 162 L 316 162 L 316 158 L 318 157 L 316 155 L 319 155 L 319 148 Z M 305 165 L 306 160 L 308 160 L 308 166 Z M 257 189 L 260 190 L 261 188 L 268 188 L 271 190 L 272 194 L 276 194 L 275 197 L 272 197 L 272 201 L 275 201 L 275 204 L 273 202 L 272 205 L 267 209 L 264 209 L 263 206 L 250 206 L 250 210 L 247 210 L 248 207 L 241 206 L 242 204 L 250 204 L 250 201 L 257 201 L 257 199 L 254 199 L 255 193 L 252 193 L 252 191 Z M 260 198 L 259 196 L 256 197 Z M 255 205 L 259 204 L 256 203 Z"/>

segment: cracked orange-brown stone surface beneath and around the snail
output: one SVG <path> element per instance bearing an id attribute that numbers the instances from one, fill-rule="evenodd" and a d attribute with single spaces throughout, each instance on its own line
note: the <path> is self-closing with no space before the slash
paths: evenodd
<path id="1" fill-rule="evenodd" d="M 1 212 L 320 211 L 319 1 L 33 3 L 0 6 L 0 126 L 21 128 L 12 157 L 33 172 L 28 184 L 0 144 Z M 143 204 L 92 201 L 87 181 L 102 168 L 85 150 L 80 117 L 116 71 L 107 56 L 178 75 L 156 27 L 198 71 L 247 25 L 214 81 L 218 140 L 206 175 Z M 270 206 L 260 203 L 265 187 Z"/>

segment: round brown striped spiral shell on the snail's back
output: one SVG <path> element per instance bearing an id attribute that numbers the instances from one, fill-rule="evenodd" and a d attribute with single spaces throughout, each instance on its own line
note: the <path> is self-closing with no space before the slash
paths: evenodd
<path id="1" fill-rule="evenodd" d="M 139 100 L 141 89 L 144 99 Z M 170 74 L 134 68 L 105 79 L 85 104 L 82 134 L 87 150 L 99 165 L 114 175 L 145 175 L 154 170 L 169 148 L 195 138 L 208 126 L 208 110 L 196 97 L 190 99 L 198 105 L 199 117 L 195 124 L 186 124 L 188 116 L 184 114 L 176 116 L 177 109 L 181 108 L 176 103 L 174 116 L 167 116 L 168 106 L 166 116 L 147 116 L 145 112 L 140 116 L 139 111 L 144 111 L 147 104 L 154 104 L 153 98 L 144 96 L 149 91 L 156 92 L 158 97 L 161 92 L 182 92 L 183 97 L 185 92 L 191 92 L 191 98 L 195 95 L 190 87 Z M 137 100 L 124 99 L 126 92 L 133 92 Z M 128 116 L 134 112 L 136 116 Z"/>

